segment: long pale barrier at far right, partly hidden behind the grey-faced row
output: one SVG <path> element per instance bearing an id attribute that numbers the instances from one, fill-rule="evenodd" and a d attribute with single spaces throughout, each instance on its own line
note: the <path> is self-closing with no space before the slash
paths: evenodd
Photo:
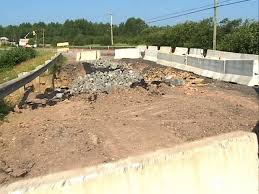
<path id="1" fill-rule="evenodd" d="M 208 50 L 207 58 L 216 58 L 216 59 L 242 59 L 242 60 L 257 60 L 259 59 L 259 55 L 251 55 L 251 54 L 243 54 L 243 53 L 232 53 L 225 51 L 215 51 Z"/>

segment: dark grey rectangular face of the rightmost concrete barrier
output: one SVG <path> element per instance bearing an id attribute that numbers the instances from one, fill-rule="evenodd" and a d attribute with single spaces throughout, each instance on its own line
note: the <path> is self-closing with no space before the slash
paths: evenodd
<path id="1" fill-rule="evenodd" d="M 253 60 L 226 60 L 225 73 L 243 76 L 253 76 Z"/>

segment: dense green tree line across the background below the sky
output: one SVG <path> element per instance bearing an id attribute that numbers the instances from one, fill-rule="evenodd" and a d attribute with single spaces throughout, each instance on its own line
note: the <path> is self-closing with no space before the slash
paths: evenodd
<path id="1" fill-rule="evenodd" d="M 64 23 L 23 23 L 0 26 L 0 36 L 18 42 L 28 32 L 36 31 L 38 42 L 69 41 L 71 45 L 110 45 L 110 24 L 93 23 L 85 19 L 66 20 Z M 151 26 L 139 18 L 129 18 L 125 23 L 113 26 L 114 42 L 117 44 L 148 44 L 157 46 L 181 46 L 189 48 L 212 48 L 213 20 L 187 21 L 174 26 Z M 223 19 L 218 27 L 217 49 L 223 51 L 259 54 L 259 22 L 255 20 Z"/>

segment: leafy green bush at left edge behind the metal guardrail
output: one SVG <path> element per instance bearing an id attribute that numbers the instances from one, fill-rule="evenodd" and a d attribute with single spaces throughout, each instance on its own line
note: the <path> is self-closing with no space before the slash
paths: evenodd
<path id="1" fill-rule="evenodd" d="M 26 60 L 35 58 L 37 52 L 32 48 L 13 48 L 0 55 L 0 68 L 11 68 Z"/>

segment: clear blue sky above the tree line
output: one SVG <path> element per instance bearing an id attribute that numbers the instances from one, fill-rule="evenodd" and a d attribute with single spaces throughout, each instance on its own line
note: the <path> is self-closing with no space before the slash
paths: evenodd
<path id="1" fill-rule="evenodd" d="M 258 1 L 252 0 L 220 7 L 219 19 L 228 17 L 258 20 Z M 129 17 L 139 17 L 148 21 L 150 18 L 213 4 L 213 2 L 213 0 L 1 0 L 0 25 L 39 21 L 63 23 L 66 19 L 79 18 L 107 23 L 109 12 L 114 14 L 116 24 L 125 22 Z M 152 25 L 174 25 L 186 20 L 197 21 L 212 16 L 213 10 L 207 10 Z"/>

